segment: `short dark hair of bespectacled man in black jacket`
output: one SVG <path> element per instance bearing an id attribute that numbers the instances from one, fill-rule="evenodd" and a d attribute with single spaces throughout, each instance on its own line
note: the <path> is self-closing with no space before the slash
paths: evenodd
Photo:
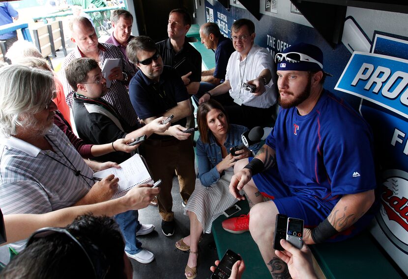
<path id="1" fill-rule="evenodd" d="M 99 67 L 98 62 L 92 58 L 75 58 L 69 62 L 65 69 L 66 80 L 72 89 L 77 92 L 77 84 L 84 82 L 87 79 L 88 73 L 97 67 Z"/>

